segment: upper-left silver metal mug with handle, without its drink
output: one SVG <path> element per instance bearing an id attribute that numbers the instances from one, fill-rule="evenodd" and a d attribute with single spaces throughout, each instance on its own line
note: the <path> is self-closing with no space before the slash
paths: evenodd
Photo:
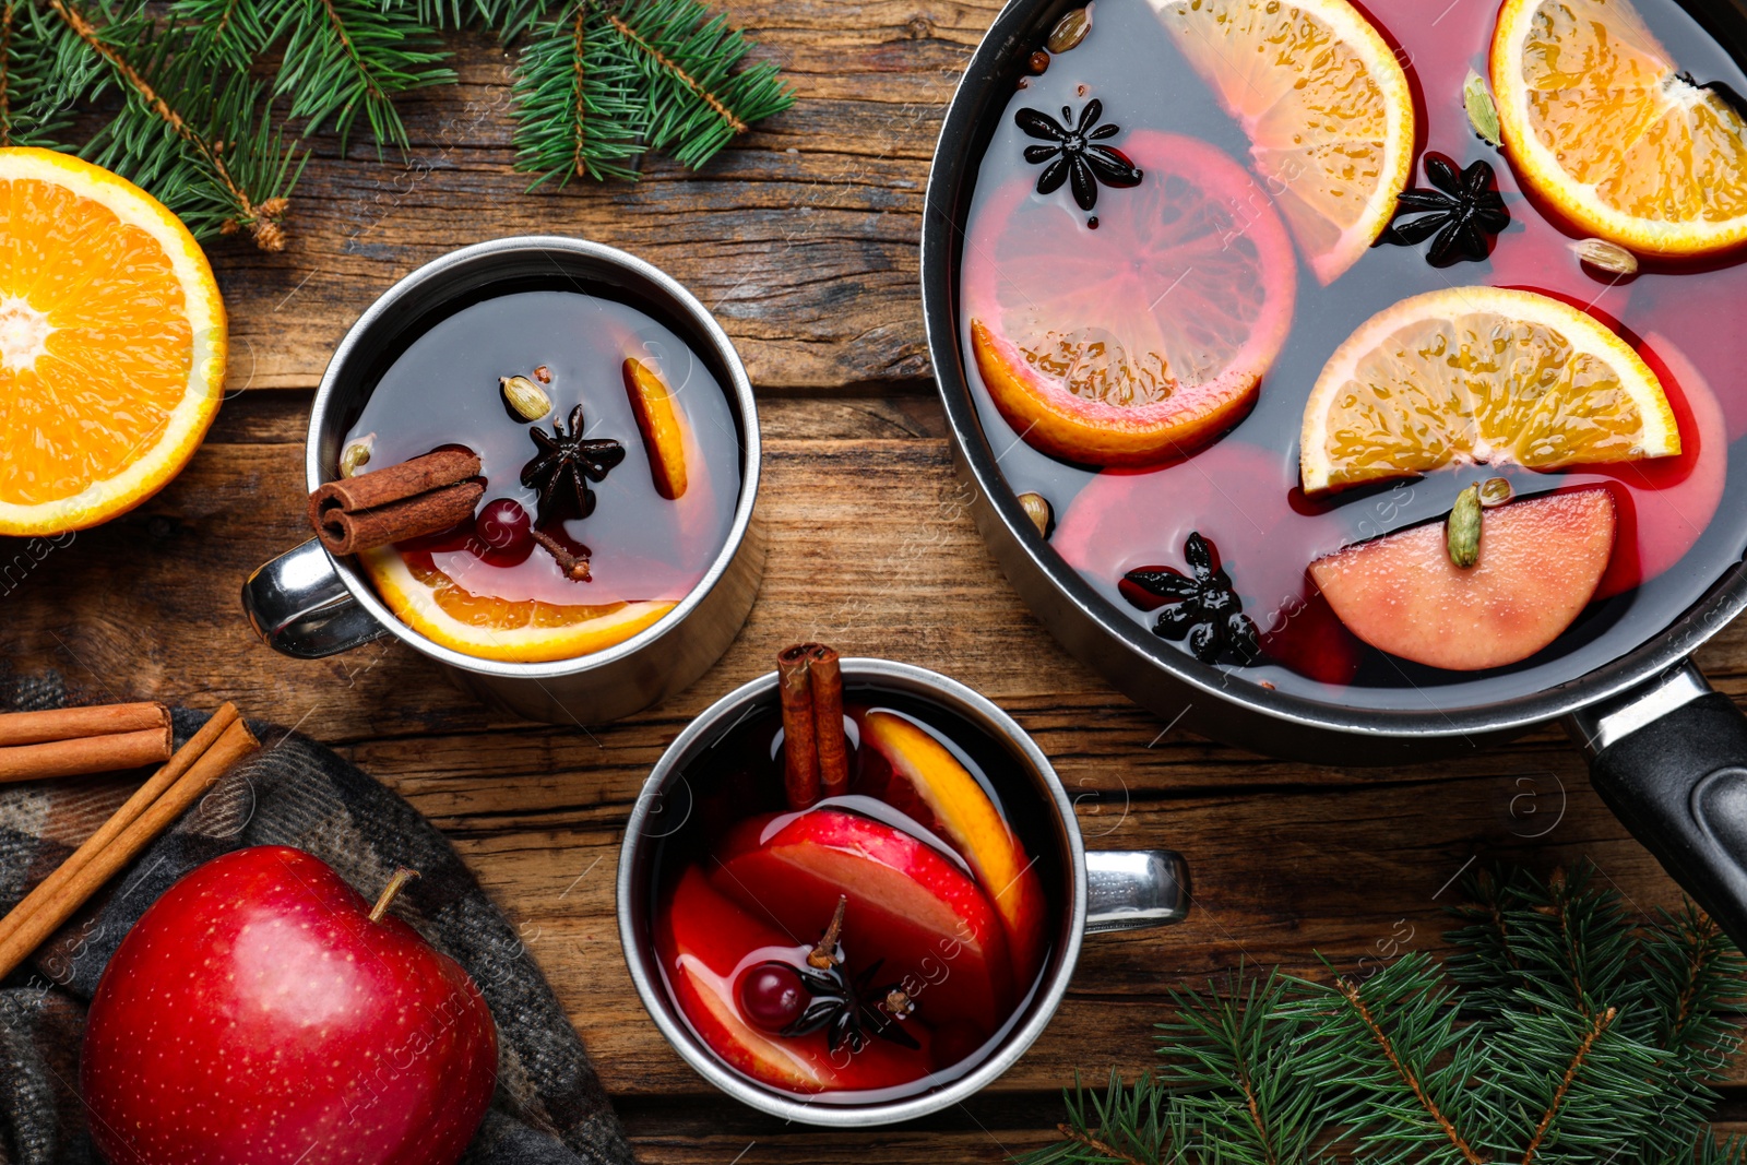
<path id="1" fill-rule="evenodd" d="M 611 246 L 559 236 L 475 243 L 435 259 L 383 293 L 328 362 L 309 414 L 309 489 L 337 477 L 341 440 L 376 381 L 407 342 L 466 302 L 519 290 L 582 290 L 629 302 L 669 325 L 728 396 L 741 433 L 741 496 L 727 543 L 685 599 L 646 631 L 601 651 L 545 664 L 486 660 L 432 643 L 402 624 L 349 559 L 311 538 L 243 583 L 257 634 L 295 658 L 321 658 L 395 636 L 435 660 L 458 688 L 529 720 L 601 723 L 692 685 L 728 648 L 763 576 L 756 515 L 758 412 L 734 344 L 697 299 L 657 267 Z"/>

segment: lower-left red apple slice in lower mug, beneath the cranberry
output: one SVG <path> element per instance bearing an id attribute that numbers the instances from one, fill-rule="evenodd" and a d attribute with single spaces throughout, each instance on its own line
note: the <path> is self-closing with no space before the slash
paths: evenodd
<path id="1" fill-rule="evenodd" d="M 788 1092 L 854 1092 L 893 1088 L 921 1078 L 933 1065 L 929 1032 L 908 1022 L 921 1051 L 868 1039 L 861 1051 L 830 1053 L 825 1032 L 777 1036 L 746 1022 L 735 1003 L 741 964 L 760 950 L 770 957 L 793 952 L 783 933 L 718 894 L 692 866 L 681 877 L 655 927 L 655 950 L 673 997 L 685 1018 L 728 1065 Z"/>

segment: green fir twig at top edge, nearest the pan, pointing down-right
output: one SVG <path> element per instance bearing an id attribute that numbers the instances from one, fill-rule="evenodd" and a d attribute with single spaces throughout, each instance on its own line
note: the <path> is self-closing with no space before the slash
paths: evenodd
<path id="1" fill-rule="evenodd" d="M 749 42 L 699 0 L 629 0 L 606 16 L 646 86 L 648 145 L 697 169 L 751 122 L 795 103 L 777 68 L 739 72 Z"/>

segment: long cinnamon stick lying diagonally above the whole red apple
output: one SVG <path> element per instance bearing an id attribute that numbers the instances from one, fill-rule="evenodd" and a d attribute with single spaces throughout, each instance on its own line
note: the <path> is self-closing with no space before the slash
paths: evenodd
<path id="1" fill-rule="evenodd" d="M 201 741 L 201 735 L 183 744 L 182 753 L 190 753 L 197 741 Z M 176 817 L 204 796 L 218 782 L 218 777 L 229 772 L 231 765 L 257 748 L 260 748 L 260 742 L 255 741 L 248 727 L 241 720 L 232 720 L 168 789 L 135 816 L 129 824 L 115 831 L 107 844 L 91 845 L 87 842 L 82 845 L 80 849 L 91 847 L 82 866 L 59 879 L 56 889 L 51 893 L 31 894 L 37 903 L 28 913 L 24 912 L 24 903 L 19 903 L 7 915 L 5 924 L 9 931 L 5 938 L 0 938 L 0 978 L 10 975 L 31 950 L 40 947 L 45 938 L 73 917 L 73 912 L 86 905 L 105 882 L 138 858 Z M 129 803 L 133 802 L 129 800 Z M 28 901 L 30 898 L 26 898 Z M 14 922 L 14 915 L 21 917 Z"/>

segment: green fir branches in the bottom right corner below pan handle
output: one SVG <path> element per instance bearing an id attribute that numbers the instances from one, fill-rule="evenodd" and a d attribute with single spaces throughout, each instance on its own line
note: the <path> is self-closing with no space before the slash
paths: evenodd
<path id="1" fill-rule="evenodd" d="M 1076 1083 L 1027 1165 L 1744 1165 L 1712 1134 L 1744 964 L 1695 908 L 1635 922 L 1590 866 L 1466 884 L 1457 954 L 1174 996 L 1167 1062 Z M 1242 973 L 1240 973 L 1242 982 Z"/>

